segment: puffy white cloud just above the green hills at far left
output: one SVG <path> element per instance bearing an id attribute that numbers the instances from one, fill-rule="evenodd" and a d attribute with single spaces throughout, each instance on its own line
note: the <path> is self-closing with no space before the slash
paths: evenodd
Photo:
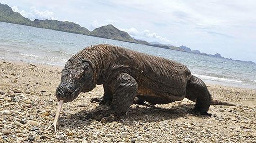
<path id="1" fill-rule="evenodd" d="M 29 18 L 30 20 L 35 20 L 35 19 L 56 19 L 53 16 L 53 12 L 49 10 L 44 10 L 40 11 L 37 10 L 35 6 L 32 6 L 30 8 L 30 11 L 25 11 L 25 10 L 19 10 L 17 6 L 13 6 L 12 10 L 14 12 L 20 13 L 22 16 Z"/>

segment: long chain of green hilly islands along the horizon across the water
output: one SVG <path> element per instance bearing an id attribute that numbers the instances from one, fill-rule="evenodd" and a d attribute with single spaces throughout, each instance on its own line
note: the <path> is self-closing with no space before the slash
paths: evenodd
<path id="1" fill-rule="evenodd" d="M 52 30 L 58 30 L 63 32 L 70 32 L 70 33 L 83 34 L 83 35 L 94 36 L 94 37 L 120 40 L 120 41 L 130 42 L 130 43 L 144 44 L 147 46 L 172 49 L 176 51 L 201 54 L 201 55 L 212 56 L 217 58 L 225 58 L 225 57 L 222 57 L 221 54 L 219 53 L 216 53 L 214 55 L 201 53 L 198 50 L 191 50 L 186 46 L 176 47 L 173 45 L 161 44 L 159 42 L 150 43 L 145 40 L 138 40 L 138 39 L 132 38 L 127 32 L 124 32 L 115 28 L 111 24 L 89 31 L 87 28 L 81 27 L 79 24 L 68 22 L 68 21 L 62 22 L 58 20 L 48 20 L 48 19 L 45 19 L 45 20 L 35 19 L 34 21 L 31 21 L 30 19 L 23 17 L 21 14 L 14 12 L 12 8 L 10 8 L 8 5 L 6 4 L 3 5 L 1 3 L 0 3 L 0 22 L 21 24 L 21 25 L 27 25 L 27 26 L 37 27 L 37 28 L 52 29 Z M 225 58 L 225 59 L 233 60 L 231 58 Z M 234 60 L 234 61 L 240 61 L 240 60 Z M 252 61 L 240 61 L 240 62 L 256 64 Z"/>

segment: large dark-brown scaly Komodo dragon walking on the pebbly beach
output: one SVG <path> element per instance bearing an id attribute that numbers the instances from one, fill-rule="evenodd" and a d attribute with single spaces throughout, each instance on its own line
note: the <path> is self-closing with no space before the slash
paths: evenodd
<path id="1" fill-rule="evenodd" d="M 89 46 L 67 61 L 56 97 L 71 102 L 96 84 L 103 84 L 104 95 L 92 101 L 110 103 L 111 114 L 103 122 L 118 119 L 131 104 L 144 101 L 167 104 L 186 97 L 196 102 L 195 111 L 209 116 L 210 104 L 233 105 L 212 100 L 204 82 L 181 63 L 108 44 Z"/>

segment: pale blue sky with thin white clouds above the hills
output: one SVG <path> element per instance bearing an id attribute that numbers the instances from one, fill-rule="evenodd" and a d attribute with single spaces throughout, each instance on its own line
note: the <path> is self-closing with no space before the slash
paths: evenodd
<path id="1" fill-rule="evenodd" d="M 131 37 L 256 62 L 255 0 L 0 0 L 31 20 L 112 24 Z"/>

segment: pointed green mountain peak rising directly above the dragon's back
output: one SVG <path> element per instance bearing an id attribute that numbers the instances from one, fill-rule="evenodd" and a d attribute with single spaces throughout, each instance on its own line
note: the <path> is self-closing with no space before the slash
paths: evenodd
<path id="1" fill-rule="evenodd" d="M 111 24 L 96 28 L 89 35 L 131 43 L 138 43 L 127 32 L 121 31 Z"/>

